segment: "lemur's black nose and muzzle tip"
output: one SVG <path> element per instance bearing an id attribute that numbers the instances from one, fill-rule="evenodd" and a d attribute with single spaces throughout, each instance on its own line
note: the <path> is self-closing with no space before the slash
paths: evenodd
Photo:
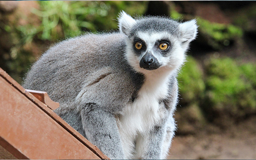
<path id="1" fill-rule="evenodd" d="M 140 60 L 140 68 L 154 70 L 159 67 L 159 62 L 152 53 L 146 53 Z"/>

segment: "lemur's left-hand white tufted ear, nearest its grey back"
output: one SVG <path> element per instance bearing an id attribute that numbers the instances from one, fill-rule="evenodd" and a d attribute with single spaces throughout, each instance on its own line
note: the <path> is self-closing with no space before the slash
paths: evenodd
<path id="1" fill-rule="evenodd" d="M 130 29 L 135 23 L 136 21 L 126 12 L 120 12 L 118 17 L 118 28 L 121 33 L 123 32 L 125 35 L 128 36 Z"/>

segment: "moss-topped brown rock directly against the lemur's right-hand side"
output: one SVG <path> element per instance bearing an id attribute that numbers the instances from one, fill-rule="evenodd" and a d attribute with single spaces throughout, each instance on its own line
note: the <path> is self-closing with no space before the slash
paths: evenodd
<path id="1" fill-rule="evenodd" d="M 183 123 L 178 123 L 181 130 L 179 132 L 191 132 L 191 126 L 202 126 L 205 123 L 204 114 L 200 108 L 200 101 L 203 100 L 205 84 L 203 71 L 198 62 L 188 56 L 185 66 L 178 75 L 180 106 L 177 113 L 181 116 Z M 189 127 L 190 126 L 190 127 Z M 190 129 L 189 129 L 190 128 Z"/>

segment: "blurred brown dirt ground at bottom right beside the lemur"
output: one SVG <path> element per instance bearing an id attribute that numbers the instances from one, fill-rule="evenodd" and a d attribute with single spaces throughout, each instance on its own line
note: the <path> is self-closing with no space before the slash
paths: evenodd
<path id="1" fill-rule="evenodd" d="M 256 117 L 220 133 L 175 136 L 167 159 L 256 159 Z"/>

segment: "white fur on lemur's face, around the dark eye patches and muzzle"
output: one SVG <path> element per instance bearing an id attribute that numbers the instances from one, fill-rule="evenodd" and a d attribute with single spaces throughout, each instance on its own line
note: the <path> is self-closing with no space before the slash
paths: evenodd
<path id="1" fill-rule="evenodd" d="M 126 52 L 126 58 L 129 62 L 129 64 L 132 66 L 134 70 L 137 72 L 143 73 L 143 74 L 154 74 L 155 72 L 161 72 L 162 70 L 165 70 L 168 68 L 170 72 L 173 70 L 179 69 L 180 66 L 184 63 L 185 61 L 185 50 L 181 47 L 180 41 L 175 38 L 174 36 L 168 34 L 167 32 L 165 33 L 138 33 L 138 37 L 143 40 L 146 45 L 147 45 L 147 50 L 146 52 L 152 52 L 152 54 L 157 58 L 159 63 L 161 64 L 161 67 L 156 69 L 156 70 L 146 70 L 144 68 L 140 68 L 140 59 L 144 56 L 146 52 L 141 54 L 140 56 L 136 55 L 133 50 L 133 42 L 127 38 L 127 52 Z M 153 47 L 155 47 L 155 43 L 158 40 L 163 40 L 163 39 L 169 39 L 171 42 L 171 54 L 167 57 L 162 56 L 159 53 L 154 53 Z M 165 69 L 163 69 L 163 67 Z M 161 69 L 162 68 L 162 69 Z"/>

